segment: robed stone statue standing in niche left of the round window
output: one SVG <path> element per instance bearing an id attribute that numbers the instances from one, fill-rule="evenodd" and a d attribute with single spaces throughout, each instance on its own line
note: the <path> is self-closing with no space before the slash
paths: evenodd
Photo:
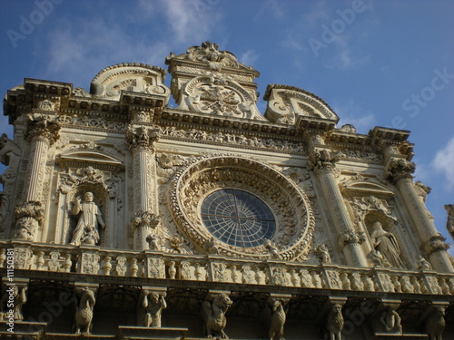
<path id="1" fill-rule="evenodd" d="M 93 201 L 92 192 L 84 193 L 84 202 L 78 197 L 75 199 L 73 214 L 79 216 L 79 221 L 74 229 L 71 245 L 96 245 L 99 242 L 98 226 L 104 228 L 101 210 Z"/>

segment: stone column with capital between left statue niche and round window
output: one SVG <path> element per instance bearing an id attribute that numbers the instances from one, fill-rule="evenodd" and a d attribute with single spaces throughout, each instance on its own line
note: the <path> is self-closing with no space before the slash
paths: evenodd
<path id="1" fill-rule="evenodd" d="M 160 222 L 157 212 L 156 162 L 154 144 L 159 138 L 159 128 L 131 124 L 126 141 L 133 153 L 133 209 L 132 227 L 134 249 L 148 249 L 146 238 Z"/>

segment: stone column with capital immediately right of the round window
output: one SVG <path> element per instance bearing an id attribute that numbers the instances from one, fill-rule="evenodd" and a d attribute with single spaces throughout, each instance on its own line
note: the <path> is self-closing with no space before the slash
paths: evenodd
<path id="1" fill-rule="evenodd" d="M 334 222 L 337 235 L 341 238 L 347 235 L 358 234 L 350 219 L 349 211 L 345 206 L 341 190 L 339 189 L 334 169 L 337 158 L 331 156 L 326 149 L 314 149 L 308 158 L 309 167 L 315 171 L 320 181 L 323 197 L 330 211 L 331 219 Z M 360 244 L 363 238 L 343 237 L 342 250 L 350 266 L 369 267 L 366 257 Z"/>

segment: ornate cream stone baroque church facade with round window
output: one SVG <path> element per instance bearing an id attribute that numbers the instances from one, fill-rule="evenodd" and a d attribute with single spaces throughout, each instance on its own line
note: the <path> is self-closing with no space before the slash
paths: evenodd
<path id="1" fill-rule="evenodd" d="M 337 127 L 288 85 L 259 112 L 259 73 L 210 42 L 165 63 L 170 88 L 120 63 L 7 92 L 2 338 L 454 336 L 409 131 Z"/>

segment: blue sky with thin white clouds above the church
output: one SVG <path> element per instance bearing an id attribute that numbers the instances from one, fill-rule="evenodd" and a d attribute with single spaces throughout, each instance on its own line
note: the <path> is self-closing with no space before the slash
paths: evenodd
<path id="1" fill-rule="evenodd" d="M 432 188 L 427 205 L 452 242 L 444 204 L 454 203 L 454 2 L 4 0 L 0 8 L 4 95 L 25 77 L 89 90 L 106 66 L 166 68 L 170 52 L 210 40 L 261 73 L 261 93 L 294 85 L 328 102 L 339 126 L 410 130 L 417 180 Z M 2 115 L 3 132 L 13 128 Z"/>

